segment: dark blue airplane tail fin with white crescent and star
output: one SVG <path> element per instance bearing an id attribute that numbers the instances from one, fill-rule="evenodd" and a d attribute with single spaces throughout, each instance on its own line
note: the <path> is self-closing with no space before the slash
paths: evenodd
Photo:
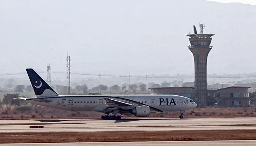
<path id="1" fill-rule="evenodd" d="M 29 80 L 37 97 L 57 96 L 58 94 L 34 71 L 26 69 Z"/>

